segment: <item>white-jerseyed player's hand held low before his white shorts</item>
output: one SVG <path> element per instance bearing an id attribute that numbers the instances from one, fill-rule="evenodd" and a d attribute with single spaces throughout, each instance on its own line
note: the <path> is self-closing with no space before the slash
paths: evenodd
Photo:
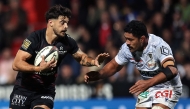
<path id="1" fill-rule="evenodd" d="M 139 95 L 150 87 L 149 84 L 148 80 L 139 80 L 129 89 L 129 92 L 131 94 Z"/>

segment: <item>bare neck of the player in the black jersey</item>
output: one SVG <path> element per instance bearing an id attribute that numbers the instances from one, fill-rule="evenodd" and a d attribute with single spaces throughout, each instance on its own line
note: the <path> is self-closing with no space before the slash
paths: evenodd
<path id="1" fill-rule="evenodd" d="M 52 29 L 47 28 L 46 30 L 46 41 L 48 44 L 52 44 L 56 39 L 57 39 L 57 35 L 53 32 Z"/>

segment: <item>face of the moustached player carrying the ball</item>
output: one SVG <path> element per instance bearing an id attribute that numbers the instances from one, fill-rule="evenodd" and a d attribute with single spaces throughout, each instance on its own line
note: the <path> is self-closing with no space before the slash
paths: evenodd
<path id="1" fill-rule="evenodd" d="M 69 18 L 66 16 L 59 16 L 54 20 L 53 31 L 57 36 L 64 37 L 68 28 Z"/>

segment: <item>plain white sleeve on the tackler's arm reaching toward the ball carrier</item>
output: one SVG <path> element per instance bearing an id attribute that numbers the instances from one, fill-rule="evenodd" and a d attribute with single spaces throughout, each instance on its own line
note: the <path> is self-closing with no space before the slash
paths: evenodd
<path id="1" fill-rule="evenodd" d="M 130 51 L 129 48 L 127 47 L 127 45 L 124 43 L 118 54 L 115 56 L 115 61 L 119 64 L 119 65 L 125 65 L 126 63 L 129 62 L 129 58 L 130 58 Z"/>

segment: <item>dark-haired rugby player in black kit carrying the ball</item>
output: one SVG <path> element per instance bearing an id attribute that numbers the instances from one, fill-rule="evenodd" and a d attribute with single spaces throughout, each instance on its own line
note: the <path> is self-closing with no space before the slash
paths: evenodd
<path id="1" fill-rule="evenodd" d="M 18 75 L 10 95 L 10 109 L 52 109 L 57 67 L 66 54 L 71 54 L 81 65 L 98 67 L 109 56 L 102 53 L 92 59 L 82 52 L 76 41 L 66 34 L 70 17 L 68 8 L 51 7 L 46 13 L 47 28 L 32 32 L 23 41 L 12 65 Z M 45 62 L 42 57 L 40 65 L 34 66 L 37 53 L 49 45 L 59 49 L 58 61 Z"/>

